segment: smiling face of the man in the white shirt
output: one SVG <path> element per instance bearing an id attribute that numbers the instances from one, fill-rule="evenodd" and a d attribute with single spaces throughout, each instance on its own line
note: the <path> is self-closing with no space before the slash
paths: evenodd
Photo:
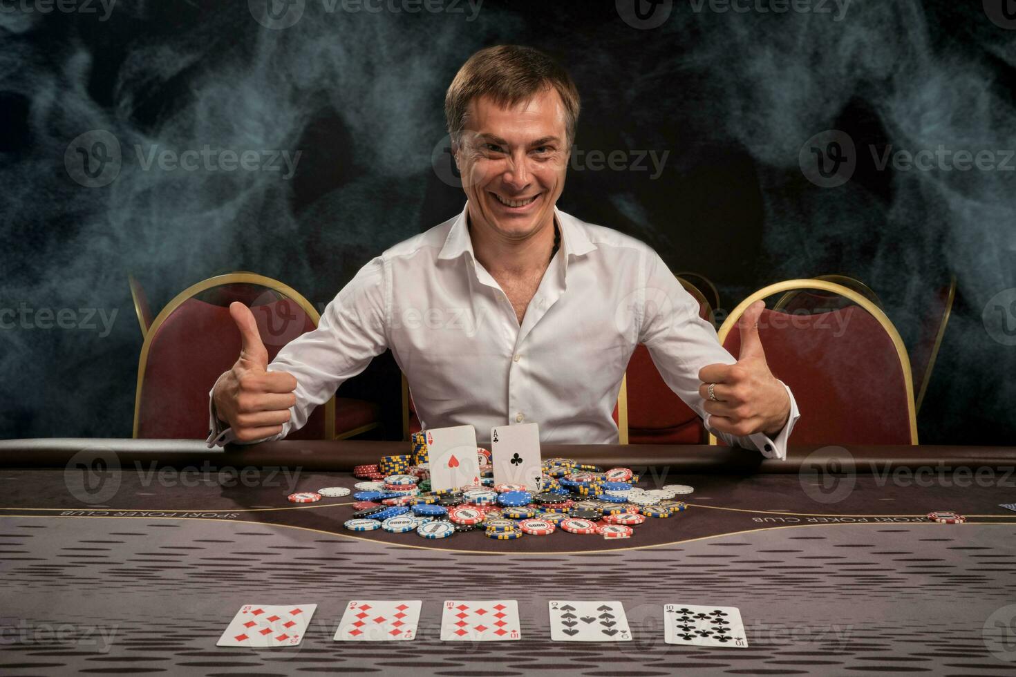
<path id="1" fill-rule="evenodd" d="M 553 87 L 511 109 L 484 96 L 469 105 L 455 162 L 473 227 L 522 241 L 550 225 L 565 187 L 565 109 Z"/>

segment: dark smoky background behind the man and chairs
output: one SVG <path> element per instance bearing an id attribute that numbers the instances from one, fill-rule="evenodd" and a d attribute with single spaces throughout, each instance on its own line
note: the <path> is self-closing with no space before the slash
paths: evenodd
<path id="1" fill-rule="evenodd" d="M 630 160 L 669 151 L 655 179 L 573 168 L 563 210 L 713 279 L 726 310 L 781 279 L 858 277 L 908 346 L 955 274 L 922 442 L 1016 439 L 1016 347 L 1006 344 L 1016 304 L 993 300 L 1016 287 L 1016 160 L 1010 171 L 880 170 L 869 150 L 1016 147 L 1016 17 L 1001 13 L 1005 0 L 853 0 L 842 14 L 832 0 L 785 13 L 759 9 L 779 0 L 743 0 L 747 12 L 674 0 L 644 3 L 670 14 L 641 29 L 624 20 L 632 0 L 487 0 L 479 12 L 447 0 L 419 13 L 307 0 L 281 29 L 255 20 L 259 1 L 120 0 L 105 19 L 98 0 L 0 12 L 0 308 L 71 309 L 79 321 L 79 309 L 117 313 L 108 335 L 101 323 L 0 329 L 0 436 L 130 436 L 141 335 L 128 272 L 154 314 L 238 269 L 321 307 L 370 258 L 457 213 L 461 190 L 432 165 L 445 89 L 475 50 L 518 43 L 575 79 L 578 148 Z M 99 188 L 65 164 L 91 130 L 123 149 L 119 175 Z M 799 165 L 826 130 L 856 147 L 855 171 L 835 188 Z M 134 151 L 204 144 L 303 154 L 284 180 L 145 170 Z M 343 391 L 383 392 L 394 407 L 393 366 L 375 360 Z"/>

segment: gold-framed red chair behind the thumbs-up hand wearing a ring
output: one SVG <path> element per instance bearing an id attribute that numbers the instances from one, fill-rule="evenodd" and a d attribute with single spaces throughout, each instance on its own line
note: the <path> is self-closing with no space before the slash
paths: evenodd
<path id="1" fill-rule="evenodd" d="M 790 387 L 801 409 L 791 435 L 801 445 L 916 445 L 910 360 L 896 328 L 875 303 L 825 280 L 786 280 L 741 301 L 719 328 L 731 354 L 741 353 L 738 320 L 749 306 L 781 291 L 811 289 L 852 302 L 814 315 L 763 311 L 759 337 L 773 376 Z M 713 435 L 710 444 L 716 444 Z"/>

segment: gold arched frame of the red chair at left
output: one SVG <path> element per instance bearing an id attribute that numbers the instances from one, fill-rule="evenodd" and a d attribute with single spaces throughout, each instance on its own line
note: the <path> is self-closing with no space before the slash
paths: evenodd
<path id="1" fill-rule="evenodd" d="M 191 298 L 192 296 L 199 294 L 202 291 L 205 291 L 206 289 L 211 289 L 212 287 L 221 286 L 224 284 L 236 284 L 236 283 L 257 284 L 263 287 L 267 287 L 272 291 L 281 293 L 283 296 L 295 300 L 300 306 L 300 308 L 304 310 L 304 313 L 306 313 L 308 317 L 311 318 L 311 320 L 314 322 L 315 327 L 321 320 L 321 315 L 314 309 L 311 302 L 307 300 L 307 298 L 305 298 L 304 295 L 301 294 L 299 291 L 289 286 L 288 284 L 279 282 L 278 280 L 274 280 L 270 277 L 265 277 L 263 275 L 257 275 L 255 273 L 244 272 L 244 273 L 228 273 L 226 275 L 215 275 L 214 277 L 209 277 L 207 279 L 201 280 L 197 284 L 192 284 L 191 286 L 187 287 L 186 289 L 178 293 L 176 296 L 174 296 L 173 300 L 171 300 L 169 303 L 166 304 L 166 308 L 160 311 L 158 315 L 155 316 L 155 319 L 152 321 L 151 327 L 145 333 L 144 343 L 141 344 L 141 356 L 138 358 L 138 364 L 137 364 L 137 389 L 134 395 L 133 436 L 135 438 L 137 437 L 137 429 L 139 424 L 138 416 L 141 411 L 141 388 L 144 384 L 144 369 L 148 363 L 148 350 L 151 347 L 152 337 L 154 337 L 155 334 L 158 333 L 158 328 L 163 326 L 163 323 L 166 322 L 166 320 L 178 308 L 180 308 L 180 306 L 188 298 Z M 341 439 L 350 437 L 353 436 L 354 434 L 360 434 L 361 432 L 366 432 L 367 430 L 370 430 L 371 428 L 377 426 L 377 423 L 371 423 L 365 426 L 361 426 L 360 428 L 356 428 L 354 430 L 344 432 L 339 437 L 335 437 L 334 395 L 332 395 L 331 399 L 325 402 L 324 409 L 325 409 L 324 411 L 325 439 Z"/>

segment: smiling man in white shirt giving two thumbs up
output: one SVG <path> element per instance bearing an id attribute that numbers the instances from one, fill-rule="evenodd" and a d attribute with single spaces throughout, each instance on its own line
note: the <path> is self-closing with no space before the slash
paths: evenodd
<path id="1" fill-rule="evenodd" d="M 472 55 L 445 97 L 462 212 L 364 266 L 271 364 L 233 303 L 243 350 L 212 388 L 209 446 L 300 428 L 386 348 L 425 428 L 471 424 L 485 444 L 493 426 L 537 422 L 544 443 L 616 444 L 621 379 L 644 343 L 710 430 L 784 458 L 799 414 L 766 366 L 764 303 L 745 313 L 735 360 L 655 252 L 555 206 L 578 113 L 571 78 L 537 50 Z"/>

